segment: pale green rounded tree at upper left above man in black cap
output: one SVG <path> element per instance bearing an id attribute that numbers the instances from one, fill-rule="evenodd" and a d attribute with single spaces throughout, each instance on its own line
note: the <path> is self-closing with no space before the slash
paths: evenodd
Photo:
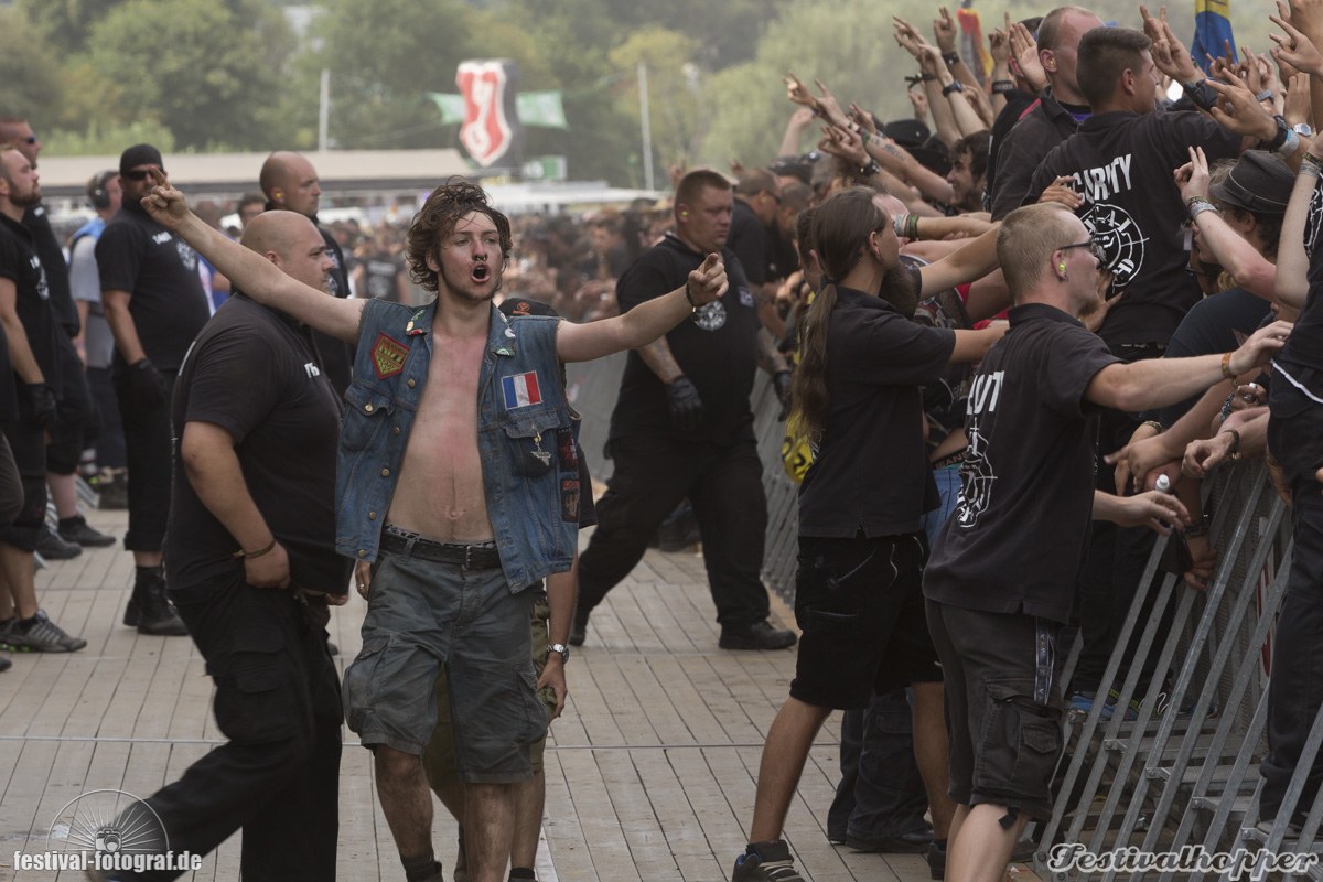
<path id="1" fill-rule="evenodd" d="M 185 149 L 286 143 L 275 94 L 292 44 L 259 3 L 128 0 L 94 25 L 90 46 L 119 89 L 122 122 L 157 120 Z"/>

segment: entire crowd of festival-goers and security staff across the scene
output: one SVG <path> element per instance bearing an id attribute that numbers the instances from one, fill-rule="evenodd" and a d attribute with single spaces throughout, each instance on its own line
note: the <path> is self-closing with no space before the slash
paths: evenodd
<path id="1" fill-rule="evenodd" d="M 1060 7 L 1007 17 L 988 71 L 945 9 L 933 42 L 897 19 L 910 118 L 787 74 L 779 156 L 583 218 L 511 221 L 450 181 L 407 227 L 319 225 L 282 151 L 234 241 L 138 144 L 89 182 L 67 264 L 40 141 L 0 119 L 0 644 L 85 645 L 32 574 L 44 541 L 112 541 L 77 509 L 94 448 L 105 497 L 127 489 L 124 624 L 192 636 L 229 738 L 147 800 L 172 848 L 242 829 L 245 878 L 333 878 L 347 719 L 410 882 L 442 878 L 429 785 L 456 879 L 528 879 L 570 647 L 687 508 L 718 647 L 798 643 L 733 882 L 803 878 L 786 815 L 837 709 L 828 837 L 992 882 L 1050 813 L 1065 709 L 1136 711 L 1102 674 L 1155 537 L 1201 590 L 1200 481 L 1263 456 L 1295 538 L 1271 820 L 1323 705 L 1323 8 L 1271 19 L 1269 53 L 1201 66 L 1164 15 Z M 620 350 L 594 505 L 564 365 Z M 759 578 L 758 370 L 800 481 L 798 633 Z M 324 625 L 351 582 L 341 700 Z"/>

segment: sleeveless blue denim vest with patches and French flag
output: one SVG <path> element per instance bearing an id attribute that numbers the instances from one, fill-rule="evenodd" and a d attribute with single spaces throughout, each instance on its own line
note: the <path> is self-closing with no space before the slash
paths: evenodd
<path id="1" fill-rule="evenodd" d="M 345 391 L 336 468 L 336 550 L 374 561 L 431 362 L 435 303 L 368 300 Z M 511 592 L 569 570 L 578 534 L 578 446 L 561 365 L 560 319 L 492 307 L 478 380 L 478 452 L 487 513 Z"/>

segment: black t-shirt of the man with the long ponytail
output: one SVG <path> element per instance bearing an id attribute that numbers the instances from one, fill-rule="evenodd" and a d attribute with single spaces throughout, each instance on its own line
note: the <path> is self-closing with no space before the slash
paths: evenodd
<path id="1" fill-rule="evenodd" d="M 921 389 L 946 369 L 955 332 L 837 288 L 827 328 L 831 411 L 799 485 L 799 536 L 897 536 L 937 506 Z"/>

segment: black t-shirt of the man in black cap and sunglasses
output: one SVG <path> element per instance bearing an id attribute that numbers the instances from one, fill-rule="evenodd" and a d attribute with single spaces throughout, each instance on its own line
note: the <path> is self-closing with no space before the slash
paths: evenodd
<path id="1" fill-rule="evenodd" d="M 128 313 L 152 364 L 179 370 L 209 312 L 197 253 L 126 201 L 97 241 L 97 271 L 102 291 L 130 294 Z M 115 365 L 123 364 L 116 349 Z"/>

